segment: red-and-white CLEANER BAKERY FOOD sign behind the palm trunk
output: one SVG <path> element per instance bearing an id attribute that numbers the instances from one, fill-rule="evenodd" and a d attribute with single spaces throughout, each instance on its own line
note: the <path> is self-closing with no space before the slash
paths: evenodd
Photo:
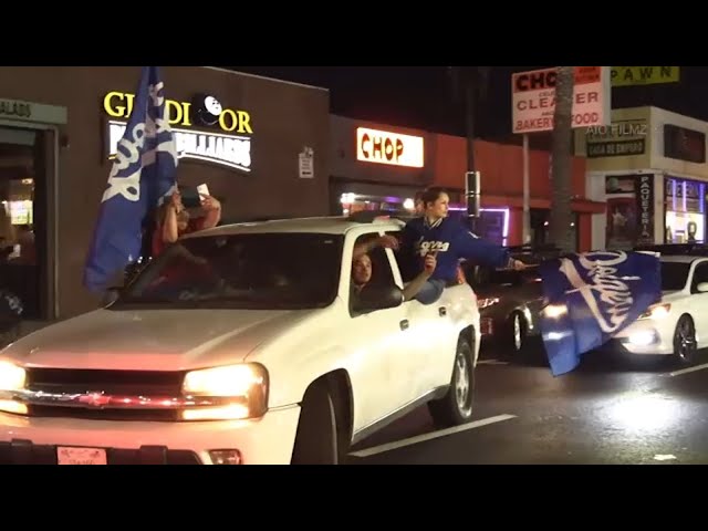
<path id="1" fill-rule="evenodd" d="M 513 133 L 553 129 L 558 69 L 519 72 L 511 76 Z M 575 66 L 573 127 L 608 125 L 610 67 Z"/>

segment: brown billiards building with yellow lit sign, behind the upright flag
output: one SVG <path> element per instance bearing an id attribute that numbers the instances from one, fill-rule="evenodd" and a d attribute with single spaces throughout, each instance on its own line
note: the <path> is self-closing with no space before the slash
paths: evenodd
<path id="1" fill-rule="evenodd" d="M 28 319 L 75 315 L 98 303 L 83 266 L 139 67 L 0 73 L 3 264 L 25 268 L 14 277 Z M 167 66 L 163 79 L 177 179 L 206 184 L 223 221 L 327 212 L 326 90 L 212 67 Z"/>

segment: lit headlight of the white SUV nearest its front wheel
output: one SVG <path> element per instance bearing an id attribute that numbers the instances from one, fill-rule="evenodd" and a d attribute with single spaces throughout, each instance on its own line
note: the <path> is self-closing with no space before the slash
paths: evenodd
<path id="1" fill-rule="evenodd" d="M 257 363 L 190 371 L 183 394 L 221 399 L 218 406 L 183 410 L 185 420 L 233 420 L 262 416 L 268 409 L 268 371 Z"/>

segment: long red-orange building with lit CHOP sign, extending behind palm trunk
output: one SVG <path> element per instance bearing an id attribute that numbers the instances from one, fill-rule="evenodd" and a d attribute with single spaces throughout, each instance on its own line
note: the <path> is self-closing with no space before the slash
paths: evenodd
<path id="1" fill-rule="evenodd" d="M 413 209 L 416 191 L 438 185 L 450 192 L 452 215 L 466 216 L 465 173 L 468 167 L 464 137 L 331 117 L 330 212 L 346 215 L 362 209 Z M 520 146 L 475 140 L 475 165 L 481 174 L 481 211 L 478 232 L 503 246 L 522 243 L 523 153 Z M 532 149 L 530 209 L 532 242 L 548 242 L 551 208 L 550 155 Z M 576 247 L 589 250 L 592 217 L 604 202 L 585 197 L 585 158 L 573 157 L 572 209 Z"/>

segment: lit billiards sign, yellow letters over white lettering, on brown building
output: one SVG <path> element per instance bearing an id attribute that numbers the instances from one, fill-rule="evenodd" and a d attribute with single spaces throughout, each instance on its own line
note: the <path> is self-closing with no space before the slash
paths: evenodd
<path id="1" fill-rule="evenodd" d="M 108 121 L 108 156 L 115 155 L 133 111 L 135 95 L 110 92 L 103 98 Z M 169 124 L 173 126 L 179 158 L 191 158 L 228 166 L 242 171 L 251 170 L 251 116 L 246 111 L 223 108 L 214 96 L 197 95 L 192 102 L 166 101 Z M 191 129 L 194 124 L 218 127 L 219 132 Z M 181 127 L 179 127 L 181 126 Z"/>

